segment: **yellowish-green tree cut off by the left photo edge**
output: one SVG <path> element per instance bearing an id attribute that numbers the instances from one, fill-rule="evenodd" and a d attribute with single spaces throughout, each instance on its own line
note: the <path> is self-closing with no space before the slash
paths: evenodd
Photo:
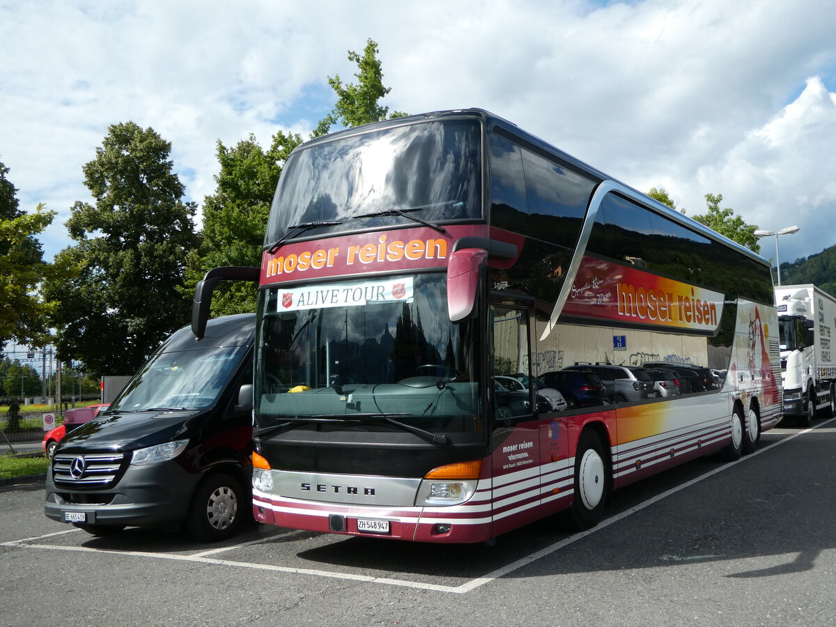
<path id="1" fill-rule="evenodd" d="M 52 223 L 55 212 L 43 205 L 33 213 L 21 211 L 7 173 L 0 163 L 0 348 L 10 339 L 43 346 L 48 341 L 47 317 L 56 303 L 45 302 L 37 288 L 56 268 L 43 261 L 35 236 Z"/>

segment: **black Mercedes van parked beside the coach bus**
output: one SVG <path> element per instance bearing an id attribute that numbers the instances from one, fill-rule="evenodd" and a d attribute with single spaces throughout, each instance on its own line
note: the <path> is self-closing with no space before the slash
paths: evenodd
<path id="1" fill-rule="evenodd" d="M 94 535 L 183 525 L 201 541 L 252 516 L 255 315 L 176 331 L 107 410 L 55 451 L 44 512 Z"/>

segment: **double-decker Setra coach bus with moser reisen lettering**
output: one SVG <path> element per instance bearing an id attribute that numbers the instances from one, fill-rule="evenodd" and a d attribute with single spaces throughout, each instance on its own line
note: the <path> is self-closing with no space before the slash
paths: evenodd
<path id="1" fill-rule="evenodd" d="M 298 147 L 265 244 L 263 523 L 474 543 L 568 509 L 589 528 L 612 489 L 737 458 L 781 418 L 762 257 L 486 111 Z M 540 389 L 599 385 L 599 364 L 670 393 Z"/>

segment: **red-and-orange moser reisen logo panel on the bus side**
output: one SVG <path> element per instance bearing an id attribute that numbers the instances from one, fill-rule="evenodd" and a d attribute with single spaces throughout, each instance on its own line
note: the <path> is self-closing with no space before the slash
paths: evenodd
<path id="1" fill-rule="evenodd" d="M 723 300 L 709 289 L 584 257 L 563 314 L 714 333 Z"/>

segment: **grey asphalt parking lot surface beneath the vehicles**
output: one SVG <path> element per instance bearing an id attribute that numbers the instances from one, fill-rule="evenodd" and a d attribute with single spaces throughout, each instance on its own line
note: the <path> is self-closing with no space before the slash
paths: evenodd
<path id="1" fill-rule="evenodd" d="M 585 533 L 553 518 L 496 546 L 268 528 L 227 543 L 93 538 L 0 492 L 3 624 L 833 624 L 836 421 L 741 461 L 616 492 Z"/>

